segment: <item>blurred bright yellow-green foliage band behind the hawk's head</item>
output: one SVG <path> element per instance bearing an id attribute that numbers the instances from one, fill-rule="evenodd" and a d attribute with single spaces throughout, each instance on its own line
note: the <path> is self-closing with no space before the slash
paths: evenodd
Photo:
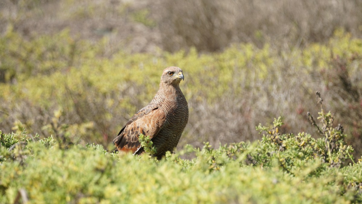
<path id="1" fill-rule="evenodd" d="M 1 69 L 5 70 L 5 82 L 13 78 L 16 83 L 1 84 L 4 98 L 19 95 L 30 98 L 34 104 L 66 102 L 65 87 L 81 89 L 89 83 L 102 94 L 125 89 L 129 82 L 142 86 L 140 99 L 150 98 L 158 89 L 162 69 L 177 65 L 185 70 L 186 85 L 181 83 L 188 98 L 202 95 L 210 102 L 225 92 L 240 93 L 241 83 L 250 86 L 252 79 L 264 81 L 278 64 L 278 55 L 266 44 L 262 49 L 252 44 L 234 45 L 222 53 L 198 54 L 191 49 L 187 54 L 127 54 L 119 52 L 110 59 L 102 56 L 100 43 L 95 46 L 75 41 L 65 30 L 54 36 L 40 36 L 26 41 L 10 29 L 1 38 Z M 352 57 L 362 53 L 362 42 L 350 39 L 348 34 L 336 33 L 327 45 L 313 44 L 303 50 L 291 62 L 293 66 L 307 69 L 328 68 L 331 55 Z M 289 57 L 285 54 L 284 57 Z M 358 70 L 352 70 L 356 74 Z M 236 81 L 236 82 L 235 82 Z M 205 88 L 212 92 L 205 92 Z M 49 104 L 48 104 L 49 105 Z"/>

